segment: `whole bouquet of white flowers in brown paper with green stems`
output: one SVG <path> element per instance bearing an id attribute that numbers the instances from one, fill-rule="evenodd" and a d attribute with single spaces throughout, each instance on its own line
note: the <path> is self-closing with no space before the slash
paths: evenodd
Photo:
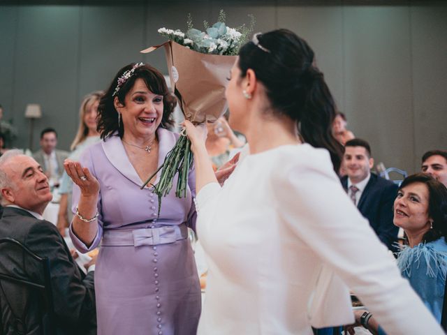
<path id="1" fill-rule="evenodd" d="M 186 34 L 179 30 L 161 28 L 159 33 L 169 38 L 162 45 L 149 47 L 142 52 L 152 52 L 164 47 L 170 75 L 171 87 L 177 96 L 185 119 L 199 124 L 215 121 L 226 111 L 225 99 L 226 77 L 235 62 L 239 47 L 253 31 L 254 17 L 250 27 L 242 25 L 238 29 L 226 27 L 225 13 L 219 13 L 219 22 L 205 31 L 193 29 L 189 16 Z M 173 187 L 173 179 L 178 172 L 176 196 L 186 197 L 186 185 L 193 161 L 191 142 L 184 133 L 180 135 L 172 151 L 165 158 L 163 165 L 150 176 L 142 188 L 161 170 L 155 192 L 161 197 Z M 160 207 L 159 207 L 160 208 Z"/>

